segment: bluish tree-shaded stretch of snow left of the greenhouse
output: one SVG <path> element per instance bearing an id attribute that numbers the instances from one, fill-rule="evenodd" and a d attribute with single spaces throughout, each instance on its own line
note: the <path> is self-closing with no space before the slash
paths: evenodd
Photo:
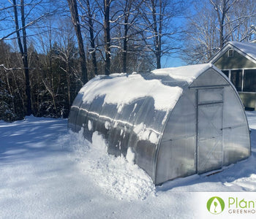
<path id="1" fill-rule="evenodd" d="M 0 123 L 0 163 L 59 153 L 59 137 L 67 132 L 67 120 L 33 118 Z"/>

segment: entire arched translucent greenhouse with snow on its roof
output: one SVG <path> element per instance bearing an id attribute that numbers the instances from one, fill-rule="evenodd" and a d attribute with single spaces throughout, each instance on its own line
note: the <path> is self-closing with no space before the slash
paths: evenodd
<path id="1" fill-rule="evenodd" d="M 97 76 L 81 88 L 69 128 L 127 155 L 156 185 L 248 158 L 249 126 L 236 88 L 212 64 Z"/>

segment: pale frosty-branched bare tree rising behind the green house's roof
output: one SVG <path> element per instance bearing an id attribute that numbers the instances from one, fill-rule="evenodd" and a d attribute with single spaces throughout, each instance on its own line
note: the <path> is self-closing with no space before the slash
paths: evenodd
<path id="1" fill-rule="evenodd" d="M 230 40 L 248 41 L 255 23 L 255 1 L 195 1 L 187 25 L 182 57 L 188 64 L 206 63 Z"/>

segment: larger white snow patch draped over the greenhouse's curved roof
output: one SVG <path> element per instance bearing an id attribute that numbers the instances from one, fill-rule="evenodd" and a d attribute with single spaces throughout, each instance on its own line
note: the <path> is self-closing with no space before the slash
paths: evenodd
<path id="1" fill-rule="evenodd" d="M 182 91 L 179 87 L 163 85 L 160 80 L 146 80 L 140 74 L 110 74 L 110 77 L 95 77 L 94 82 L 84 86 L 79 93 L 83 93 L 83 101 L 88 103 L 105 96 L 104 103 L 117 104 L 120 112 L 124 104 L 145 96 L 154 98 L 156 110 L 172 109 Z"/>

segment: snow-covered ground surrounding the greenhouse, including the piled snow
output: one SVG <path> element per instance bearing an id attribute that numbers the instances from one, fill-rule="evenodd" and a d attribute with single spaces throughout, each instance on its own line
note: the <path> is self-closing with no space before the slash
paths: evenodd
<path id="1" fill-rule="evenodd" d="M 246 114 L 250 158 L 157 187 L 97 133 L 92 144 L 69 133 L 67 120 L 0 121 L 0 218 L 195 218 L 195 192 L 256 191 L 256 113 Z"/>

